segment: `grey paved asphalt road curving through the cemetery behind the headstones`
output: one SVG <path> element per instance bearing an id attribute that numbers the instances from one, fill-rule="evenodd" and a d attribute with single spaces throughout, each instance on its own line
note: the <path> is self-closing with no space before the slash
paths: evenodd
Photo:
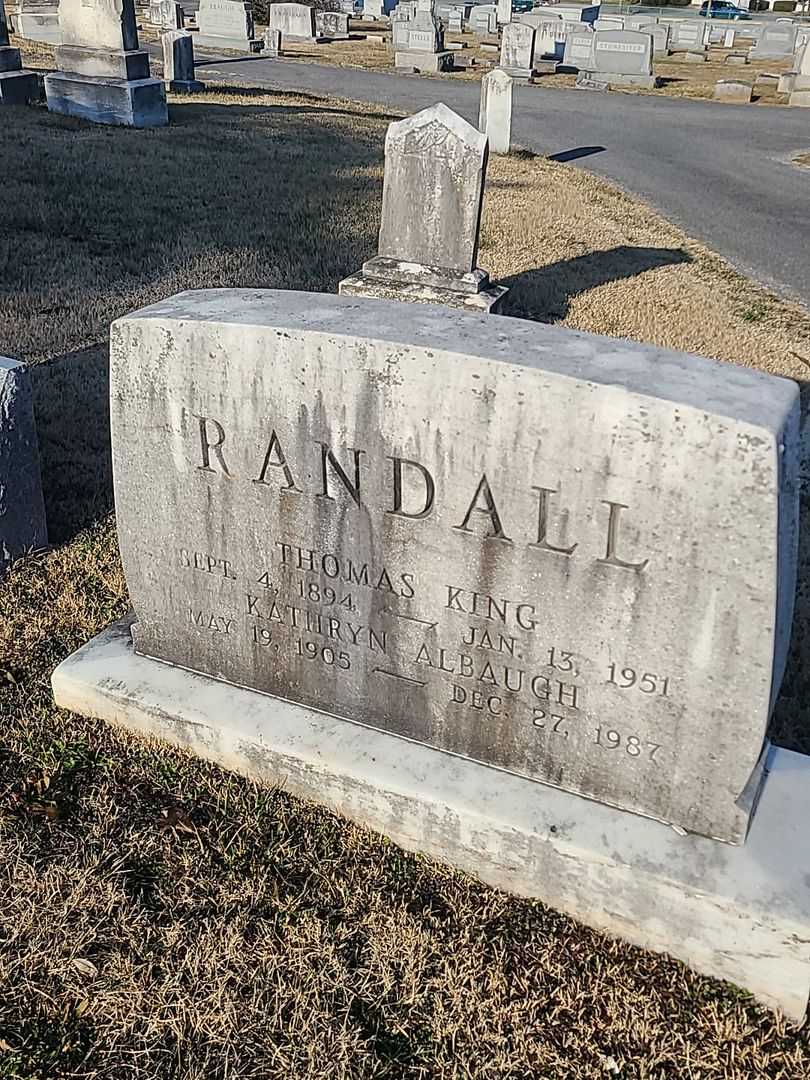
<path id="1" fill-rule="evenodd" d="M 201 77 L 417 111 L 442 100 L 473 123 L 478 85 L 293 60 L 198 58 Z M 203 75 L 204 72 L 204 75 Z M 513 138 L 642 195 L 743 272 L 810 307 L 810 111 L 640 94 L 515 87 Z"/>

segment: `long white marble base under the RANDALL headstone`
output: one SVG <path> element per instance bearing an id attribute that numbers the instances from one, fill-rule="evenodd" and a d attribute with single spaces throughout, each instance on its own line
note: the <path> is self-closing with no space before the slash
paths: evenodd
<path id="1" fill-rule="evenodd" d="M 53 690 L 64 708 L 283 784 L 407 850 L 805 1017 L 808 757 L 771 751 L 757 815 L 735 847 L 136 656 L 126 621 L 59 664 Z"/>

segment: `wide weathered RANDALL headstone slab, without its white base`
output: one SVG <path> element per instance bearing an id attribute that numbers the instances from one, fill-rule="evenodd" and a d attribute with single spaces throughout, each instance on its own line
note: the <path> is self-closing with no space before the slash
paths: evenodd
<path id="1" fill-rule="evenodd" d="M 789 636 L 797 403 L 521 320 L 165 300 L 111 334 L 136 648 L 739 842 Z"/>

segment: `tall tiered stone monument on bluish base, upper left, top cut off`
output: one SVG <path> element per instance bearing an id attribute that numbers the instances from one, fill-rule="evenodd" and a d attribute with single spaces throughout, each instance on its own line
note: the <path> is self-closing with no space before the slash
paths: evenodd
<path id="1" fill-rule="evenodd" d="M 100 124 L 168 123 L 160 79 L 138 49 L 134 0 L 60 0 L 57 71 L 44 78 L 48 108 Z"/>

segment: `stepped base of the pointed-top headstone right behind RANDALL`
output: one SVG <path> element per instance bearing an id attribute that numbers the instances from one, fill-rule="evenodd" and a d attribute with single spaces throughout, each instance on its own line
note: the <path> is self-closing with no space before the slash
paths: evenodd
<path id="1" fill-rule="evenodd" d="M 442 303 L 495 314 L 508 289 L 490 285 L 485 270 L 454 273 L 443 267 L 400 262 L 378 255 L 364 262 L 360 273 L 345 278 L 338 292 L 340 296 Z"/>

